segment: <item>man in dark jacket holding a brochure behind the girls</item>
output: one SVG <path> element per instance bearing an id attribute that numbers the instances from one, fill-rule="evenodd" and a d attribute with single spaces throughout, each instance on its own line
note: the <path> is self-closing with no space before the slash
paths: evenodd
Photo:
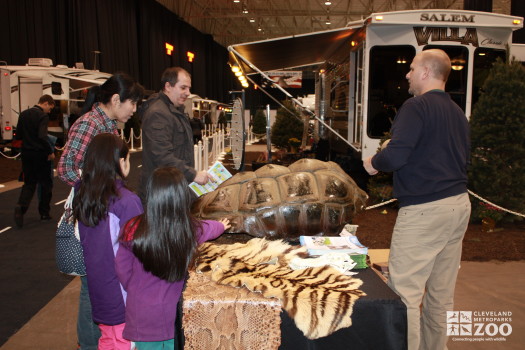
<path id="1" fill-rule="evenodd" d="M 190 96 L 190 74 L 180 67 L 166 69 L 161 77 L 162 90 L 142 107 L 142 176 L 140 196 L 146 198 L 146 184 L 153 171 L 174 166 L 188 183 L 206 184 L 212 177 L 206 170 L 195 170 L 193 133 L 184 114 Z"/>

